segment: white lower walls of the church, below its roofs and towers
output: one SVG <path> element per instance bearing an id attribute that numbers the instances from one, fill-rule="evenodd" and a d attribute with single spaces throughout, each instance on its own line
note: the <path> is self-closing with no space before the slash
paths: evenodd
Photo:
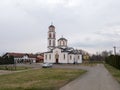
<path id="1" fill-rule="evenodd" d="M 58 63 L 82 63 L 81 54 L 68 54 L 67 52 L 61 52 L 61 49 L 56 48 L 53 50 L 53 53 L 44 53 L 44 62 L 56 63 L 55 55 L 58 54 Z M 46 58 L 47 55 L 47 58 Z M 65 55 L 65 58 L 64 58 Z M 70 59 L 71 56 L 71 59 Z M 51 57 L 51 58 L 50 58 Z M 78 58 L 79 57 L 79 58 Z"/>

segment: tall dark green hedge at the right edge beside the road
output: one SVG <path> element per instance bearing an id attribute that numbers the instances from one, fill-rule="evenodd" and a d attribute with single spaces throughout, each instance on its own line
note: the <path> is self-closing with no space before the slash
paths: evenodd
<path id="1" fill-rule="evenodd" d="M 120 69 L 120 56 L 110 55 L 106 58 L 106 63 L 114 66 L 117 69 Z"/>

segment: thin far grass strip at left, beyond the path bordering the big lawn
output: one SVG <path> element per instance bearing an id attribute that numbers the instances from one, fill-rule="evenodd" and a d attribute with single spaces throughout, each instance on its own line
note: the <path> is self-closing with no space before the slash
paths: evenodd
<path id="1" fill-rule="evenodd" d="M 7 65 L 2 65 L 0 66 L 0 70 L 9 70 L 9 71 L 18 71 L 18 70 L 26 70 L 30 69 L 30 67 L 24 67 L 24 66 L 7 66 Z"/>

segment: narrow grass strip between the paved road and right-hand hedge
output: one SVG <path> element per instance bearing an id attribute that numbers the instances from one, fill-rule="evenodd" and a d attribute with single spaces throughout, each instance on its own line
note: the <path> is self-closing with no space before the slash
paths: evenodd
<path id="1" fill-rule="evenodd" d="M 120 70 L 116 69 L 113 66 L 110 66 L 108 64 L 105 64 L 105 67 L 113 75 L 113 77 L 115 77 L 115 79 L 120 83 Z"/>

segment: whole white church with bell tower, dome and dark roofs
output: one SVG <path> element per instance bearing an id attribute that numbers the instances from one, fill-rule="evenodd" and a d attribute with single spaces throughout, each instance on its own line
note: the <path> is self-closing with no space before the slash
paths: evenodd
<path id="1" fill-rule="evenodd" d="M 48 51 L 44 53 L 44 62 L 48 63 L 82 63 L 79 50 L 68 47 L 68 40 L 61 37 L 57 40 L 55 26 L 48 27 Z"/>

